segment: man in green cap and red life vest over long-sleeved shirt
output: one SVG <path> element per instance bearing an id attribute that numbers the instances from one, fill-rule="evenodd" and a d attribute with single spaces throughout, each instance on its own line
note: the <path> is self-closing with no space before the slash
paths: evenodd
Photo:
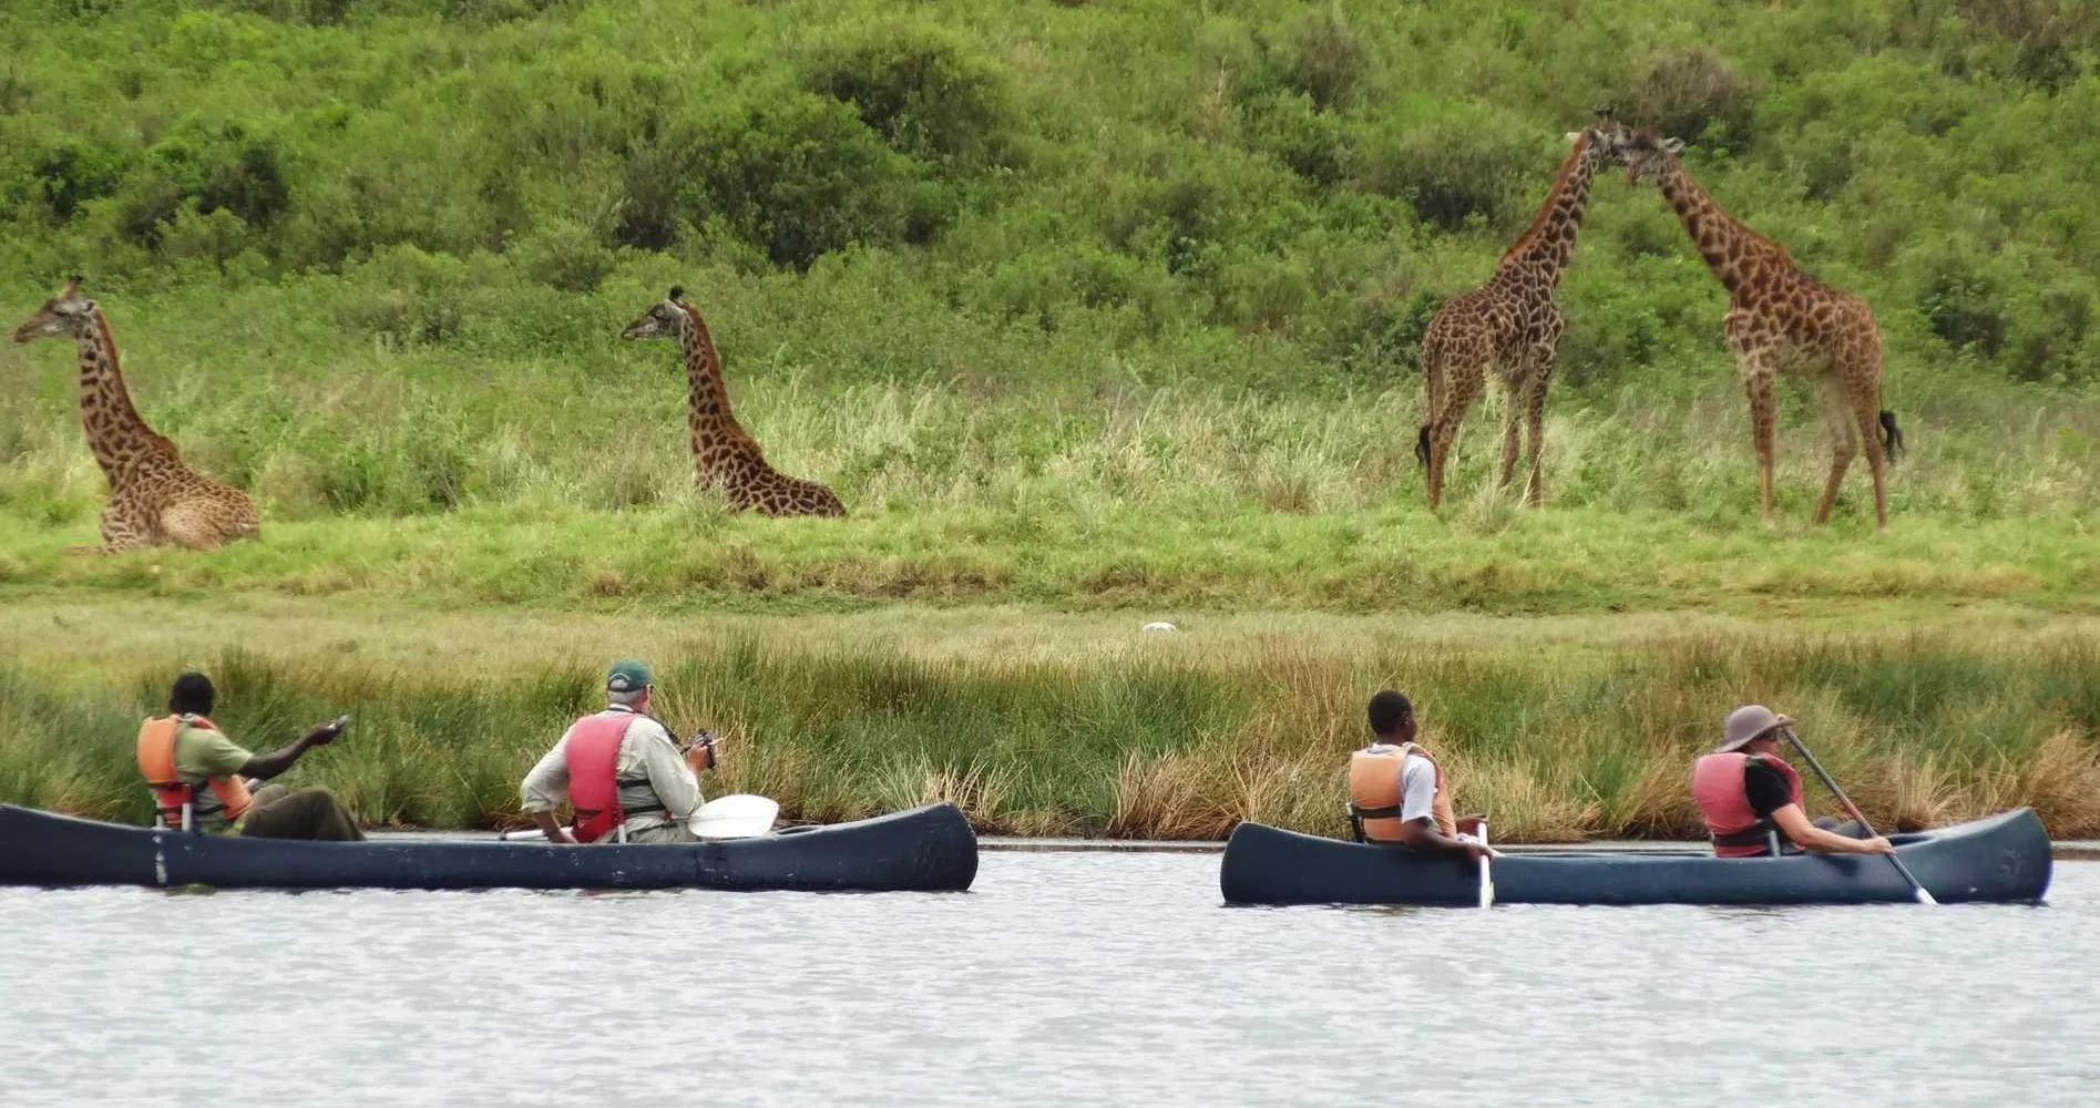
<path id="1" fill-rule="evenodd" d="M 712 737 L 680 758 L 670 728 L 649 716 L 649 667 L 615 661 L 605 674 L 605 711 L 569 724 L 554 749 L 525 774 L 525 814 L 548 841 L 695 841 L 685 821 L 699 808 L 699 772 L 714 768 Z M 554 808 L 575 808 L 563 831 Z"/>

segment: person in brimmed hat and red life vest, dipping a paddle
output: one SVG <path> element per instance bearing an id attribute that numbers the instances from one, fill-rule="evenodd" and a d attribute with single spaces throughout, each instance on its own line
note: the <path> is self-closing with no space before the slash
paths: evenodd
<path id="1" fill-rule="evenodd" d="M 1865 837 L 1852 821 L 1810 821 L 1802 812 L 1802 774 L 1779 758 L 1789 726 L 1793 720 L 1770 707 L 1743 705 L 1728 713 L 1720 747 L 1693 764 L 1693 802 L 1705 816 L 1714 854 L 1894 854 L 1888 839 Z"/>

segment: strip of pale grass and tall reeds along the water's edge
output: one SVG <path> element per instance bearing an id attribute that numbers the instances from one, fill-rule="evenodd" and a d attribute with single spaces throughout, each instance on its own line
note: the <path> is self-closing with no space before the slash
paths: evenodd
<path id="1" fill-rule="evenodd" d="M 0 800 L 143 818 L 136 720 L 174 667 L 202 663 L 220 680 L 223 722 L 256 745 L 355 713 L 351 739 L 298 779 L 338 789 L 363 821 L 510 823 L 517 779 L 590 707 L 605 636 L 653 648 L 668 720 L 733 737 L 716 789 L 775 795 L 792 818 L 956 800 L 987 831 L 1214 837 L 1258 818 L 1338 833 L 1363 697 L 1394 684 L 1420 699 L 1460 804 L 1516 841 L 1695 833 L 1686 766 L 1745 699 L 1800 716 L 1877 823 L 2035 804 L 2060 837 L 2100 833 L 2100 638 L 2083 627 L 1947 638 L 1686 623 L 1598 642 L 1564 627 L 1348 638 L 1329 632 L 1350 621 L 1208 636 L 1121 623 L 1113 638 L 1067 623 L 1048 651 L 1016 648 L 1025 632 L 981 638 L 964 657 L 922 648 L 951 640 L 939 630 L 914 644 L 869 623 L 823 642 L 830 619 L 735 617 L 626 636 L 504 627 L 567 642 L 525 646 L 531 663 L 502 642 L 340 619 L 304 644 L 279 630 L 250 651 L 202 646 L 225 640 L 216 630 L 90 665 L 46 646 L 0 669 Z"/>

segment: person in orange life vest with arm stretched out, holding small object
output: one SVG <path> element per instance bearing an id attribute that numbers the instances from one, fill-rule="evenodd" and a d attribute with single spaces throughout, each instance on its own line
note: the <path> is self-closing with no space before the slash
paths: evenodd
<path id="1" fill-rule="evenodd" d="M 313 747 L 336 741 L 342 720 L 319 724 L 296 743 L 271 753 L 250 753 L 212 722 L 216 699 L 204 674 L 183 674 L 168 690 L 168 716 L 139 728 L 139 772 L 153 789 L 158 821 L 191 831 L 237 829 L 258 839 L 363 839 L 349 810 L 328 789 L 286 789 L 267 785 L 248 791 L 248 781 L 269 781 L 292 768 Z"/>

